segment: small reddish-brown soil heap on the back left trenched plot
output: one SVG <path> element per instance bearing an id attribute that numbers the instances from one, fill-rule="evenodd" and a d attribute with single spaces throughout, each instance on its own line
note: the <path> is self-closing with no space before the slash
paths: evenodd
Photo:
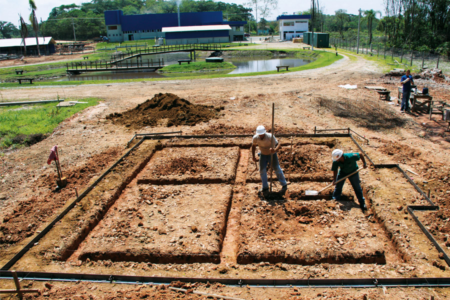
<path id="1" fill-rule="evenodd" d="M 199 157 L 177 157 L 168 165 L 158 165 L 155 172 L 161 175 L 182 175 L 201 173 L 208 167 L 207 160 Z"/>

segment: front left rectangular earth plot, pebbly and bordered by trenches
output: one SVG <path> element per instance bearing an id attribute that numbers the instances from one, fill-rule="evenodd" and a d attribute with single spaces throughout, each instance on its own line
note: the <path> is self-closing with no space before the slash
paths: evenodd
<path id="1" fill-rule="evenodd" d="M 79 259 L 219 262 L 231 192 L 230 184 L 128 186 Z"/>

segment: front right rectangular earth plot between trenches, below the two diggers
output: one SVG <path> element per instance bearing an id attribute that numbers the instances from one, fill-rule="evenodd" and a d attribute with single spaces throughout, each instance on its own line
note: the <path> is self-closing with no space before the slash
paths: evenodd
<path id="1" fill-rule="evenodd" d="M 383 243 L 356 202 L 288 196 L 261 201 L 248 185 L 238 263 L 385 263 Z M 303 188 L 291 184 L 289 189 Z"/>

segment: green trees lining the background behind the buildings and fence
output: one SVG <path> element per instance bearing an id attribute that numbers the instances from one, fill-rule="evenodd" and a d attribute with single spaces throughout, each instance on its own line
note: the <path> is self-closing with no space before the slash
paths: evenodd
<path id="1" fill-rule="evenodd" d="M 358 15 L 345 9 L 324 14 L 324 6 L 315 1 L 314 11 L 297 13 L 313 14 L 310 30 L 329 32 L 330 37 L 353 40 L 357 36 Z M 180 12 L 218 11 L 230 21 L 245 20 L 245 31 L 256 32 L 256 26 L 267 34 L 277 33 L 277 24 L 268 21 L 277 0 L 248 0 L 244 5 L 214 2 L 213 0 L 181 0 Z M 361 11 L 360 39 L 366 43 L 383 43 L 386 46 L 415 50 L 430 50 L 450 56 L 450 0 L 383 0 L 384 11 Z M 311 5 L 312 7 L 312 5 Z M 39 24 L 39 35 L 55 39 L 91 39 L 105 35 L 104 10 L 121 9 L 124 14 L 170 13 L 177 11 L 176 0 L 91 0 L 80 5 L 69 4 L 54 7 L 48 19 Z M 253 16 L 255 13 L 255 16 Z M 256 16 L 257 15 L 257 16 Z M 28 36 L 36 31 L 26 24 Z M 35 28 L 34 28 L 35 29 Z M 73 30 L 75 29 L 75 30 Z M 0 21 L 0 37 L 20 37 L 20 29 L 10 22 Z"/>

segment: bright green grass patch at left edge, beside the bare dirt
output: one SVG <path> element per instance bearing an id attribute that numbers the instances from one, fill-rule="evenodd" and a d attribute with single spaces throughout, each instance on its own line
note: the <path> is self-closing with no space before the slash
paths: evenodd
<path id="1" fill-rule="evenodd" d="M 14 141 L 17 136 L 52 132 L 60 122 L 86 107 L 96 105 L 99 99 L 70 100 L 87 103 L 77 103 L 67 107 L 56 107 L 56 102 L 0 107 L 0 149 L 20 146 L 17 141 Z"/>

